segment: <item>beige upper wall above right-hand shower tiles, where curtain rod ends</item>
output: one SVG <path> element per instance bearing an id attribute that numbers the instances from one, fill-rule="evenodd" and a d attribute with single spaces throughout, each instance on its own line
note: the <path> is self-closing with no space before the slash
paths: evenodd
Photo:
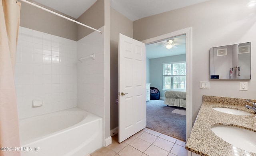
<path id="1" fill-rule="evenodd" d="M 95 29 L 99 29 L 104 26 L 104 0 L 97 0 L 88 10 L 86 10 L 86 12 L 84 12 L 84 14 L 77 19 L 77 21 Z M 77 28 L 77 40 L 94 32 L 94 30 L 80 25 L 77 25 Z"/>

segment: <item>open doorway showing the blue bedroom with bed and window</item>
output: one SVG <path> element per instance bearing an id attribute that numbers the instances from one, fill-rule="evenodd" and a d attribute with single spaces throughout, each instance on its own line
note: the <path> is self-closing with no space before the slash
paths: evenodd
<path id="1" fill-rule="evenodd" d="M 186 35 L 146 45 L 146 56 L 146 127 L 186 141 Z"/>

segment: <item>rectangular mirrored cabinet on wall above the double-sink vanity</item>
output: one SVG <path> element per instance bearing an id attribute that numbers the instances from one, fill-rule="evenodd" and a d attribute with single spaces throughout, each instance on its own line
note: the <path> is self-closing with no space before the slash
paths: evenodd
<path id="1" fill-rule="evenodd" d="M 251 79 L 251 42 L 210 48 L 210 79 Z"/>

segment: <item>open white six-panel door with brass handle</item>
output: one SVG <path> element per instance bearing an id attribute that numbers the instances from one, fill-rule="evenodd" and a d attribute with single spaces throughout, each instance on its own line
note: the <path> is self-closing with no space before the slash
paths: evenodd
<path id="1" fill-rule="evenodd" d="M 146 127 L 146 46 L 119 34 L 118 142 Z"/>

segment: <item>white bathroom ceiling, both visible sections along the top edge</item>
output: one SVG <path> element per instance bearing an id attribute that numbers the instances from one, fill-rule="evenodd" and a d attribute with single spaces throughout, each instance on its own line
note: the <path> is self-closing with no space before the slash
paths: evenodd
<path id="1" fill-rule="evenodd" d="M 81 16 L 97 0 L 33 0 L 73 18 Z M 208 0 L 110 0 L 110 6 L 132 21 Z"/>

